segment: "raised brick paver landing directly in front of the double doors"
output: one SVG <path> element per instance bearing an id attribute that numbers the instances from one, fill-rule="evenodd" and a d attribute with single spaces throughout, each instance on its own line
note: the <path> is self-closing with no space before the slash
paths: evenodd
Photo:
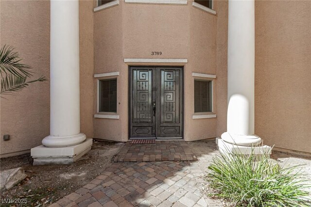
<path id="1" fill-rule="evenodd" d="M 116 155 L 115 162 L 197 160 L 184 141 L 155 141 L 154 144 L 127 142 Z"/>

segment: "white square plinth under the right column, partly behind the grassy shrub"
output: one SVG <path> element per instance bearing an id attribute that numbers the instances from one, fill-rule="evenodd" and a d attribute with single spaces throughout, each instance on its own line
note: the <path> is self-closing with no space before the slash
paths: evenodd
<path id="1" fill-rule="evenodd" d="M 238 155 L 249 155 L 252 150 L 255 155 L 271 155 L 272 147 L 267 145 L 262 146 L 240 146 L 236 144 L 231 144 L 225 142 L 221 138 L 216 138 L 216 144 L 218 146 L 218 150 L 222 153 L 235 153 Z"/>

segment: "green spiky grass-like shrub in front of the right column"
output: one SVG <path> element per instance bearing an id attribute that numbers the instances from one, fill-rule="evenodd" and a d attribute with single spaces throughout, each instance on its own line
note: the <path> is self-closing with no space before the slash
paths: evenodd
<path id="1" fill-rule="evenodd" d="M 306 177 L 298 166 L 280 168 L 268 155 L 221 153 L 206 176 L 212 193 L 242 207 L 311 206 Z"/>

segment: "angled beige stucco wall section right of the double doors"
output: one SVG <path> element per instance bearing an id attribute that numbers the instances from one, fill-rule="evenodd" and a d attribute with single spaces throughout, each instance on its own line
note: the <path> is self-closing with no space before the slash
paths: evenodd
<path id="1" fill-rule="evenodd" d="M 201 11 L 188 2 L 190 28 L 188 64 L 185 68 L 185 123 L 186 141 L 207 139 L 216 136 L 216 118 L 192 119 L 194 114 L 194 78 L 192 73 L 216 74 L 216 33 L 217 17 Z M 217 4 L 217 2 L 215 2 Z M 216 7 L 216 5 L 214 5 Z M 216 74 L 217 75 L 217 74 Z M 215 89 L 213 88 L 213 109 L 216 111 Z"/>

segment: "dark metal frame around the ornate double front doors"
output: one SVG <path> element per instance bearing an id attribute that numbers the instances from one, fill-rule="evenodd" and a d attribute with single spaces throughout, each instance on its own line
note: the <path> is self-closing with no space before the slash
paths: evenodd
<path id="1" fill-rule="evenodd" d="M 182 124 L 181 124 L 181 138 L 176 138 L 176 137 L 172 137 L 172 138 L 160 138 L 160 139 L 165 139 L 165 140 L 169 140 L 169 139 L 183 139 L 184 140 L 184 121 L 185 121 L 185 115 L 184 115 L 184 109 L 185 109 L 185 99 L 184 99 L 184 80 L 185 80 L 185 76 L 184 76 L 184 66 L 183 65 L 128 65 L 128 103 L 127 103 L 127 107 L 128 107 L 128 139 L 129 140 L 139 140 L 139 139 L 158 139 L 156 136 L 153 138 L 131 138 L 131 67 L 180 67 L 181 68 L 181 74 L 182 74 L 182 85 L 181 85 L 181 90 L 182 90 L 182 94 L 181 94 L 181 98 L 182 98 L 182 103 L 181 103 L 181 111 L 180 113 L 182 114 Z"/>

